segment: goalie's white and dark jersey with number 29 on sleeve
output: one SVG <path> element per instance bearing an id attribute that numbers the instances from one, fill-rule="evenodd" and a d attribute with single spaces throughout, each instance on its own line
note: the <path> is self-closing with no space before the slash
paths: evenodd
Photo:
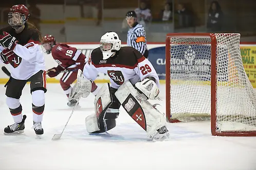
<path id="1" fill-rule="evenodd" d="M 159 78 L 151 62 L 139 51 L 132 47 L 121 47 L 116 55 L 103 60 L 100 48 L 94 49 L 84 66 L 83 75 L 90 80 L 95 80 L 98 73 L 109 76 L 111 87 L 118 89 L 127 80 L 132 84 L 146 77 L 154 77 L 159 87 Z"/>

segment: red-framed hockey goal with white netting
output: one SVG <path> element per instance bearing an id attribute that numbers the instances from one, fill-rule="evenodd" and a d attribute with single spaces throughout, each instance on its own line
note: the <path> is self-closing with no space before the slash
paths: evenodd
<path id="1" fill-rule="evenodd" d="M 240 53 L 240 34 L 168 34 L 167 119 L 211 120 L 212 135 L 256 136 L 256 93 Z"/>

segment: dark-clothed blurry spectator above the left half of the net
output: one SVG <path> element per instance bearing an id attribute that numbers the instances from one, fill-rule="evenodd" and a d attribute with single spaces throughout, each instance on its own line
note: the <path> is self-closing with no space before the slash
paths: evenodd
<path id="1" fill-rule="evenodd" d="M 184 4 L 178 4 L 177 13 L 180 28 L 192 27 L 194 25 L 192 11 L 189 11 Z"/>

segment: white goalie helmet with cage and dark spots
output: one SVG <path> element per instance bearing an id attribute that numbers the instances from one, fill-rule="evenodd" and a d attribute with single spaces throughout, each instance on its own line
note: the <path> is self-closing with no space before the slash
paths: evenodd
<path id="1" fill-rule="evenodd" d="M 100 50 L 103 54 L 103 59 L 107 59 L 115 55 L 115 52 L 120 50 L 120 48 L 121 40 L 117 33 L 107 32 L 100 38 Z"/>

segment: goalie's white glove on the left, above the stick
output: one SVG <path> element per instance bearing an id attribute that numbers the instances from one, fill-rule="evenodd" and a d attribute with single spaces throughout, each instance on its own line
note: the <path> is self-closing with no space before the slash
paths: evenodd
<path id="1" fill-rule="evenodd" d="M 72 99 L 79 99 L 82 97 L 87 97 L 92 90 L 92 81 L 88 80 L 86 77 L 83 76 L 83 72 L 79 69 L 77 73 L 77 83 L 71 89 L 71 92 L 68 96 L 69 100 Z"/>

